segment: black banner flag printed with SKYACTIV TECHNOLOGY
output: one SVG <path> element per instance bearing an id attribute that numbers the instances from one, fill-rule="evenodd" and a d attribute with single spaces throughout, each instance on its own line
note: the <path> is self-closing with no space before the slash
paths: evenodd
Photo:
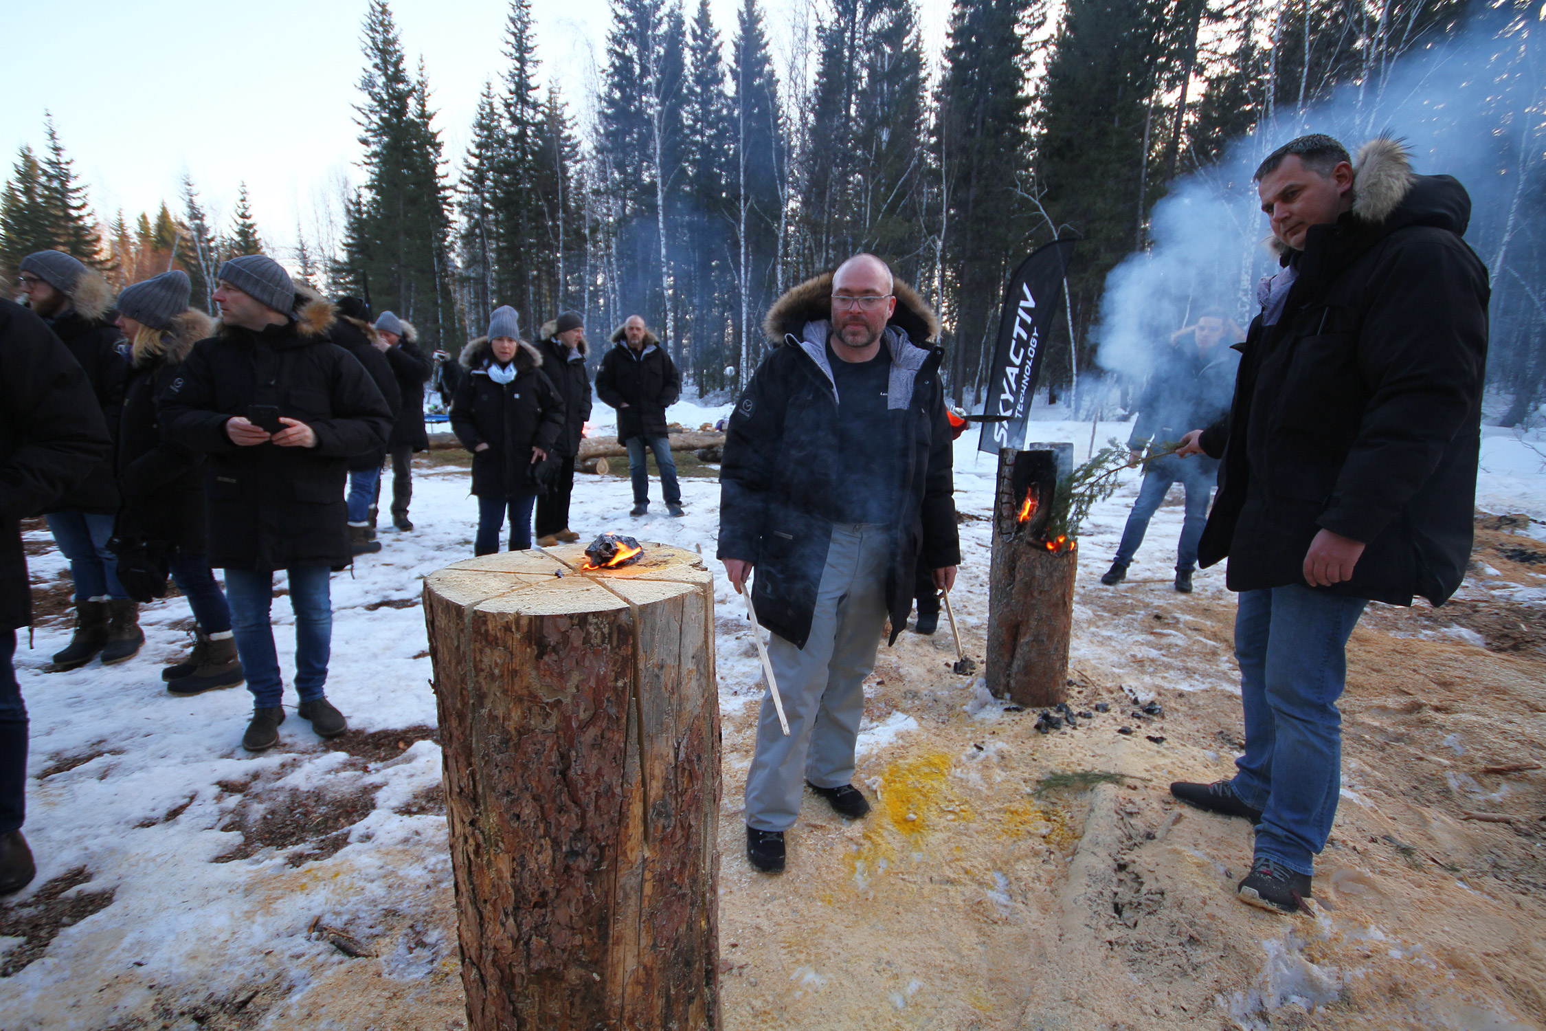
<path id="1" fill-rule="evenodd" d="M 1073 257 L 1073 240 L 1054 240 L 1020 263 L 1003 291 L 999 343 L 993 351 L 988 399 L 983 414 L 1002 422 L 983 422 L 979 451 L 1020 447 L 1025 420 L 1042 371 L 1042 342 L 1051 332 L 1062 306 L 1062 278 Z"/>

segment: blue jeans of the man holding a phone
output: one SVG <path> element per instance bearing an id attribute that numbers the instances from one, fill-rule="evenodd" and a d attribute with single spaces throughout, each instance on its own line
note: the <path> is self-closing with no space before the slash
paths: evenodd
<path id="1" fill-rule="evenodd" d="M 328 683 L 328 651 L 332 646 L 332 601 L 326 566 L 297 566 L 289 573 L 291 611 L 295 612 L 295 692 L 301 702 L 322 697 Z M 257 708 L 272 708 L 284 699 L 280 658 L 274 649 L 269 607 L 274 604 L 274 573 L 250 569 L 226 570 L 237 655 L 247 674 Z"/>

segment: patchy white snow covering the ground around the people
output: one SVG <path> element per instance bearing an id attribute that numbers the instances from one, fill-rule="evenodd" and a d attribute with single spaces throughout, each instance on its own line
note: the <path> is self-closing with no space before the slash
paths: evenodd
<path id="1" fill-rule="evenodd" d="M 713 422 L 728 405 L 676 405 L 669 417 L 688 427 Z M 597 405 L 595 433 L 614 431 L 611 411 Z M 1096 445 L 1125 439 L 1116 422 L 1096 428 Z M 1537 434 L 1538 436 L 1538 434 Z M 1091 439 L 1088 422 L 1037 422 L 1031 437 L 1073 441 L 1082 459 Z M 996 459 L 976 451 L 977 434 L 955 448 L 957 505 L 988 515 Z M 1535 447 L 1543 447 L 1538 441 Z M 1492 512 L 1527 512 L 1546 518 L 1543 459 L 1507 431 L 1489 430 L 1478 504 Z M 281 745 L 260 756 L 240 748 L 250 711 L 246 689 L 193 699 L 169 696 L 158 679 L 190 641 L 186 603 L 170 598 L 142 612 L 147 645 L 128 663 L 49 674 L 48 655 L 65 645 L 68 621 L 36 629 L 32 648 L 17 655 L 22 691 L 31 711 L 26 835 L 39 861 L 32 887 L 6 900 L 12 907 L 73 870 L 85 870 L 65 897 L 110 898 L 93 915 L 59 931 L 46 952 L 0 982 L 0 1028 L 107 1028 L 125 1014 L 182 1014 L 189 1000 L 212 985 L 247 985 L 283 999 L 281 1011 L 300 1012 L 328 971 L 346 963 L 322 924 L 369 937 L 382 914 L 411 912 L 416 900 L 445 893 L 450 883 L 444 818 L 425 799 L 441 782 L 441 756 L 430 740 L 436 723 L 427 654 L 421 580 L 472 555 L 476 504 L 467 473 L 455 465 L 425 465 L 416 475 L 416 530 L 383 529 L 383 549 L 362 558 L 352 572 L 332 577 L 334 632 L 328 697 L 352 728 L 374 734 L 345 750 L 323 747 L 295 717 L 281 726 Z M 714 553 L 719 487 L 713 479 L 683 479 L 688 515 L 651 513 L 631 519 L 625 478 L 577 478 L 572 527 L 581 535 L 626 530 L 640 539 Z M 1122 521 L 1138 488 L 1129 473 L 1122 488 L 1101 504 L 1081 539 L 1081 584 L 1110 561 Z M 651 482 L 659 504 L 659 484 Z M 1132 578 L 1169 577 L 1183 510 L 1180 490 L 1163 507 L 1132 570 Z M 1537 536 L 1540 527 L 1537 526 Z M 32 533 L 29 543 L 46 543 Z M 963 590 L 985 598 L 989 524 L 962 526 Z M 31 560 L 34 583 L 53 581 L 65 569 L 57 552 Z M 717 563 L 710 567 L 719 573 Z M 283 577 L 278 578 L 283 587 Z M 1221 572 L 1200 575 L 1201 590 L 1221 590 Z M 720 617 L 744 612 L 744 601 L 724 578 L 716 586 Z M 292 620 L 284 598 L 275 600 L 277 643 L 286 682 L 294 660 Z M 960 614 L 980 626 L 986 604 Z M 720 620 L 720 702 L 739 709 L 756 697 L 758 662 L 745 648 L 727 648 L 736 620 Z M 1220 674 L 1229 666 L 1220 658 Z M 286 705 L 294 706 L 289 692 Z M 911 726 L 909 726 L 911 723 Z M 864 750 L 887 748 L 917 728 L 892 714 L 866 726 Z M 340 791 L 343 802 L 339 801 Z M 264 844 L 254 830 L 261 813 L 250 798 L 267 799 L 263 819 L 283 822 L 343 804 L 348 815 L 331 855 L 297 858 L 281 844 Z M 274 812 L 286 805 L 292 812 Z M 727 799 L 727 807 L 733 802 Z M 733 816 L 727 816 L 733 819 Z M 232 858 L 235 856 L 235 858 Z M 404 935 L 382 957 L 383 978 L 413 982 L 439 972 L 455 977 L 455 932 L 427 926 Z M 0 963 L 23 938 L 0 938 Z M 237 1005 L 237 1003 L 223 1003 Z M 271 1019 L 274 1019 L 271 1017 Z M 193 1026 L 179 1023 L 162 1026 Z M 122 1026 L 141 1026 L 127 1025 Z M 246 1026 L 246 1025 L 243 1025 Z M 303 1025 L 301 1025 L 303 1026 Z M 320 1025 L 318 1025 L 320 1026 Z M 396 1025 L 394 1025 L 396 1026 Z"/>

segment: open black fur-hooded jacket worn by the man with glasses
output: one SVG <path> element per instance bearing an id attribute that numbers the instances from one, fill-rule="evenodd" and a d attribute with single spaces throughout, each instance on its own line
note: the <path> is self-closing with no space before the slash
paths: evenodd
<path id="1" fill-rule="evenodd" d="M 720 465 L 719 558 L 756 567 L 758 620 L 804 648 L 816 587 L 832 543 L 836 484 L 864 454 L 841 450 L 838 397 L 827 368 L 832 275 L 796 286 L 768 311 L 776 346 L 758 366 L 730 416 Z M 886 573 L 892 641 L 912 609 L 914 575 L 960 563 L 951 478 L 952 434 L 940 383 L 938 348 L 918 346 L 938 323 L 900 280 L 890 348 L 890 420 L 900 439 L 895 547 Z"/>

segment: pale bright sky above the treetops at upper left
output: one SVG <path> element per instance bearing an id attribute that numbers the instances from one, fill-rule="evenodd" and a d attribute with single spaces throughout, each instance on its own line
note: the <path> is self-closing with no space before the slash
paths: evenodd
<path id="1" fill-rule="evenodd" d="M 104 218 L 175 202 L 182 172 L 224 219 L 246 181 L 272 244 L 311 233 L 318 201 L 359 179 L 352 104 L 362 66 L 363 0 L 0 0 L 0 176 L 22 144 L 43 144 L 54 116 L 76 172 Z M 498 76 L 504 0 L 396 0 L 410 60 L 422 54 L 453 170 L 485 79 Z M 696 0 L 686 5 L 696 9 Z M 711 0 L 720 36 L 737 0 Z M 764 0 L 784 63 L 805 0 Z M 940 45 L 948 0 L 926 0 L 928 43 Z M 583 114 L 594 62 L 604 60 L 606 0 L 532 0 L 544 79 Z M 691 11 L 690 11 L 691 14 Z M 781 66 L 782 74 L 782 66 Z"/>

